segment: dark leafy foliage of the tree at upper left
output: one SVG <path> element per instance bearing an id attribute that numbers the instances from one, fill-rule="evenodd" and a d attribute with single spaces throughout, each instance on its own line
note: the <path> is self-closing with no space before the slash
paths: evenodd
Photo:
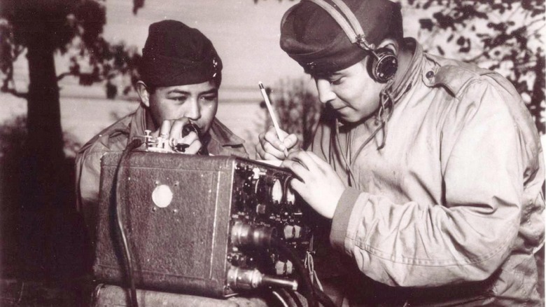
<path id="1" fill-rule="evenodd" d="M 0 12 L 2 92 L 26 97 L 13 83 L 13 63 L 29 44 L 36 43 L 33 34 L 45 36 L 40 40 L 42 48 L 69 56 L 69 70 L 58 74 L 57 81 L 71 75 L 77 76 L 83 86 L 116 76 L 130 76 L 132 83 L 136 82 L 140 60 L 137 49 L 102 37 L 106 24 L 104 1 L 6 0 L 1 2 Z"/>

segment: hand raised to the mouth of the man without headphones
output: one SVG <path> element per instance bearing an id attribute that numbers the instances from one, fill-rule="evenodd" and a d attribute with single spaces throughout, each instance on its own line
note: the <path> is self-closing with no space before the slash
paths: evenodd
<path id="1" fill-rule="evenodd" d="M 185 125 L 188 125 L 190 120 L 186 117 L 175 119 L 175 120 L 165 120 L 161 124 L 161 128 L 154 133 L 155 137 L 163 135 L 169 140 L 171 144 L 183 144 L 187 146 L 184 151 L 176 151 L 186 154 L 195 154 L 200 151 L 203 144 L 199 139 L 199 135 L 195 131 L 191 131 L 186 136 L 182 136 L 182 129 Z M 174 151 L 174 150 L 173 150 Z"/>

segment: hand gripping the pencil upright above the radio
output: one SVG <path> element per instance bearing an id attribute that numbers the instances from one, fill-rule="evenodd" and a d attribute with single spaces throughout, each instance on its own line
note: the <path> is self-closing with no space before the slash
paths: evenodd
<path id="1" fill-rule="evenodd" d="M 284 160 L 286 158 L 284 151 L 288 153 L 300 150 L 300 144 L 296 135 L 281 130 L 281 136 L 284 137 L 283 141 L 276 135 L 275 128 L 269 126 L 266 132 L 260 133 L 258 138 L 260 142 L 256 144 L 256 153 L 258 157 L 264 160 Z"/>

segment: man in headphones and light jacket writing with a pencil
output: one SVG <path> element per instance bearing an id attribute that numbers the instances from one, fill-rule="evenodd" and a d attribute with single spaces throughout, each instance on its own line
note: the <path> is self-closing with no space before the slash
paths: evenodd
<path id="1" fill-rule="evenodd" d="M 363 306 L 543 306 L 545 166 L 524 102 L 499 74 L 402 33 L 388 0 L 302 0 L 281 21 L 281 48 L 331 116 L 309 149 L 270 128 L 256 150 L 331 219 L 351 270 L 326 276 L 326 292 Z"/>

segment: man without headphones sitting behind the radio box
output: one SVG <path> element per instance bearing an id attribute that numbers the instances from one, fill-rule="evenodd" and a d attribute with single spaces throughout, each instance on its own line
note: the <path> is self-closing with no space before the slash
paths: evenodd
<path id="1" fill-rule="evenodd" d="M 139 74 L 137 110 L 99 132 L 76 156 L 77 205 L 91 240 L 97 223 L 100 159 L 106 152 L 123 151 L 128 141 L 146 135 L 145 130 L 184 144 L 186 154 L 247 156 L 244 141 L 215 117 L 222 61 L 198 29 L 175 20 L 150 25 Z M 183 135 L 188 124 L 195 129 Z"/>

